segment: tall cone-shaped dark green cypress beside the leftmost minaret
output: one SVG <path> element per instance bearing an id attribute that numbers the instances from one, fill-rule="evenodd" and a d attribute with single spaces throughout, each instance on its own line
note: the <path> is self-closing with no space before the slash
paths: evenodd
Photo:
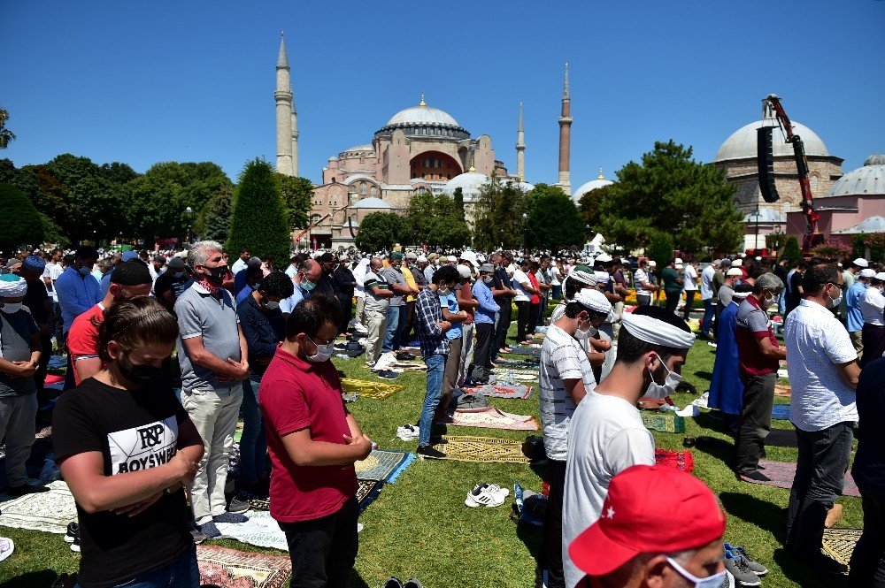
<path id="1" fill-rule="evenodd" d="M 289 258 L 290 242 L 286 208 L 273 167 L 264 159 L 253 159 L 240 173 L 227 250 L 248 248 L 262 259 L 274 256 L 281 260 Z"/>

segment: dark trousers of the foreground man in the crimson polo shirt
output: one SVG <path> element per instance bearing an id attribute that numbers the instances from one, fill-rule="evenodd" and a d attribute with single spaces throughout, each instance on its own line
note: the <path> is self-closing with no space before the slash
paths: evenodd
<path id="1" fill-rule="evenodd" d="M 289 543 L 292 588 L 348 588 L 357 561 L 359 506 L 353 497 L 338 512 L 312 521 L 279 523 Z"/>

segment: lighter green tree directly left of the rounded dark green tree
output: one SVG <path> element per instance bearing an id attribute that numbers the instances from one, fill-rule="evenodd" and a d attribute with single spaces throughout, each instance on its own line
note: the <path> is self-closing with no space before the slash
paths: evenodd
<path id="1" fill-rule="evenodd" d="M 480 188 L 474 205 L 473 246 L 489 251 L 503 246 L 519 248 L 524 244 L 526 193 L 512 181 L 502 182 L 496 177 Z"/>

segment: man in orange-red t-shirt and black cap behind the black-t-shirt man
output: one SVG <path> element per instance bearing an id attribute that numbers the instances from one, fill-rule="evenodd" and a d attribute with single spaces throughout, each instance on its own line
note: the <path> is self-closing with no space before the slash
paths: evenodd
<path id="1" fill-rule="evenodd" d="M 77 386 L 102 369 L 102 360 L 98 358 L 98 326 L 104 321 L 104 312 L 116 302 L 150 294 L 152 284 L 148 266 L 142 261 L 134 259 L 120 263 L 111 274 L 111 287 L 104 300 L 73 320 L 71 330 L 67 332 L 67 350 L 71 354 L 73 379 Z"/>

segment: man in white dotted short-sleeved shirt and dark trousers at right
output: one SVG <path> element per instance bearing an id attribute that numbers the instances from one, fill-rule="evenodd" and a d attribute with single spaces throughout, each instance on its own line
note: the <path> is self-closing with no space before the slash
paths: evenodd
<path id="1" fill-rule="evenodd" d="M 787 549 L 819 573 L 844 566 L 820 553 L 827 511 L 842 494 L 858 420 L 858 354 L 831 309 L 839 306 L 842 273 L 815 265 L 805 274 L 805 298 L 784 327 L 787 370 L 793 388 L 790 421 L 799 457 L 789 493 Z"/>

